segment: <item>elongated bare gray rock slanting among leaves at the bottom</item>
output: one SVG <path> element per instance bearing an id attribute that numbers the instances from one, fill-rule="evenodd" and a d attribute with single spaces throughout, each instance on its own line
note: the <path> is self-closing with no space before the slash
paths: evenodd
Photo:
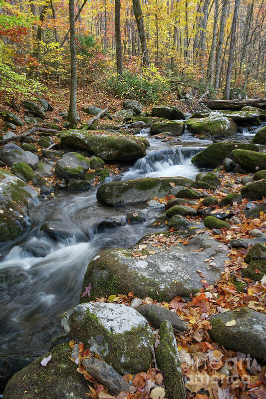
<path id="1" fill-rule="evenodd" d="M 96 358 L 84 359 L 82 364 L 91 376 L 96 378 L 99 383 L 107 387 L 113 394 L 118 395 L 121 391 L 129 391 L 128 382 L 103 360 Z"/>

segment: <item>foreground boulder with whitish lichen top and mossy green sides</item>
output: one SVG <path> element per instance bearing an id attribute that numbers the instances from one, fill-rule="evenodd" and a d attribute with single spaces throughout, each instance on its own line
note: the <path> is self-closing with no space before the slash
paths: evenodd
<path id="1" fill-rule="evenodd" d="M 147 320 L 131 307 L 83 303 L 63 314 L 62 327 L 120 374 L 149 369 L 155 338 Z"/>

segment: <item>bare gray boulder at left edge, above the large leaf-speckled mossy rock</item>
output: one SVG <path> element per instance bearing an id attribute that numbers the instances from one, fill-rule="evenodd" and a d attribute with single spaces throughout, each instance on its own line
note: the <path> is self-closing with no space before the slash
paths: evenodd
<path id="1" fill-rule="evenodd" d="M 8 143 L 0 149 L 0 160 L 7 166 L 12 166 L 16 162 L 24 162 L 32 169 L 38 165 L 39 158 L 30 151 L 24 151 L 16 144 Z"/>

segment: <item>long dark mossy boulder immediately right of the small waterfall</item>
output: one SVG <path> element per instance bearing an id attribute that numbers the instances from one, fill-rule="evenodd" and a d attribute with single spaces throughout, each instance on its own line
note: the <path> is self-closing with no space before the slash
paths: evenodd
<path id="1" fill-rule="evenodd" d="M 216 168 L 223 164 L 225 158 L 232 159 L 232 151 L 236 149 L 260 151 L 257 144 L 248 143 L 213 143 L 196 154 L 191 162 L 199 168 Z"/>

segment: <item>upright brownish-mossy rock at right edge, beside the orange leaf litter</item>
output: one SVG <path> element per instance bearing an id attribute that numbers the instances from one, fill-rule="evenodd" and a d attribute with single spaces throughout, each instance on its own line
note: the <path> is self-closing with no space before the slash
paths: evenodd
<path id="1" fill-rule="evenodd" d="M 266 246 L 260 243 L 253 245 L 245 257 L 247 269 L 242 274 L 252 280 L 260 281 L 266 274 Z"/>

